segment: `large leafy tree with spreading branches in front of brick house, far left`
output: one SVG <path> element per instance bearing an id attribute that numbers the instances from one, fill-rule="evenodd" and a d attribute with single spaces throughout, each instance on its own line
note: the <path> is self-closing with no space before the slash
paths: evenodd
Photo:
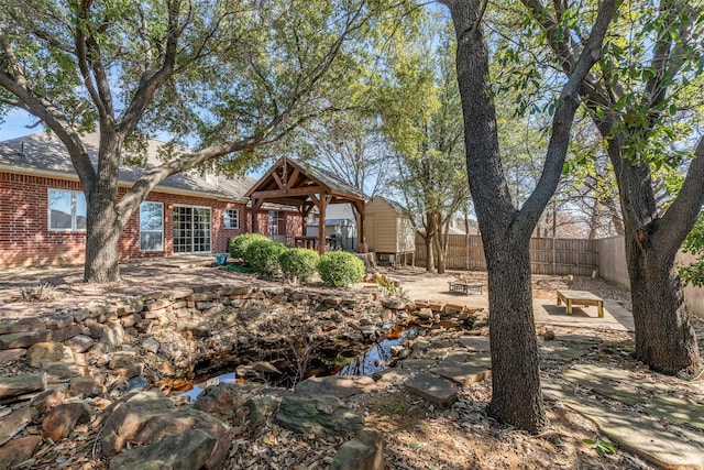
<path id="1" fill-rule="evenodd" d="M 355 40 L 404 6 L 289 3 L 0 0 L 0 102 L 36 116 L 70 155 L 88 205 L 86 282 L 120 278 L 122 228 L 161 181 L 213 162 L 243 172 L 255 149 L 338 108 L 329 90 L 352 79 L 366 47 Z M 81 142 L 95 128 L 97 164 Z M 119 198 L 125 147 L 155 131 L 198 136 L 200 150 L 166 147 Z"/>

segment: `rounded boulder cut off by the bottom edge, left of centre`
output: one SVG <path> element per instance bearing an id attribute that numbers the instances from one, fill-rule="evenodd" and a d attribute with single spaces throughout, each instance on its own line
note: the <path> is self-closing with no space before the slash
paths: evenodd
<path id="1" fill-rule="evenodd" d="M 133 469 L 211 469 L 206 464 L 218 440 L 202 429 L 168 435 L 148 446 L 120 452 L 110 461 L 110 470 Z M 217 468 L 220 468 L 218 464 Z"/>

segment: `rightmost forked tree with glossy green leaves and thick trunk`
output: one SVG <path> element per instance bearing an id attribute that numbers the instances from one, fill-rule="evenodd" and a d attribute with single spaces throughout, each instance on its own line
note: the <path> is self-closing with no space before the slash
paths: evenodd
<path id="1" fill-rule="evenodd" d="M 540 25 L 554 63 L 572 74 L 582 4 L 552 2 L 548 8 L 539 0 L 521 1 Z M 693 132 L 702 118 L 704 4 L 641 0 L 627 7 L 605 43 L 600 74 L 580 94 L 618 183 L 636 352 L 658 371 L 696 372 L 702 361 L 674 258 L 704 203 L 704 138 L 697 142 Z M 685 145 L 691 150 L 682 151 Z M 689 172 L 663 211 L 653 172 L 682 161 Z"/>

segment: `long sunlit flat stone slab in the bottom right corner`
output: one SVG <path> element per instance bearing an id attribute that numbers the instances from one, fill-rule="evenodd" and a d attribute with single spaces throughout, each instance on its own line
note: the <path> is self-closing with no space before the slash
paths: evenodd
<path id="1" fill-rule="evenodd" d="M 627 409 L 609 412 L 579 398 L 569 407 L 594 422 L 619 447 L 666 469 L 704 469 L 704 447 L 678 436 L 676 426 L 662 426 Z"/>

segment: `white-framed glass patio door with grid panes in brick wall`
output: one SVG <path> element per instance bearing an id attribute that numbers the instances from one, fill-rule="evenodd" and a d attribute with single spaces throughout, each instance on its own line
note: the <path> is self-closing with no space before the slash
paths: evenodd
<path id="1" fill-rule="evenodd" d="M 210 253 L 209 207 L 174 206 L 174 253 Z"/>

